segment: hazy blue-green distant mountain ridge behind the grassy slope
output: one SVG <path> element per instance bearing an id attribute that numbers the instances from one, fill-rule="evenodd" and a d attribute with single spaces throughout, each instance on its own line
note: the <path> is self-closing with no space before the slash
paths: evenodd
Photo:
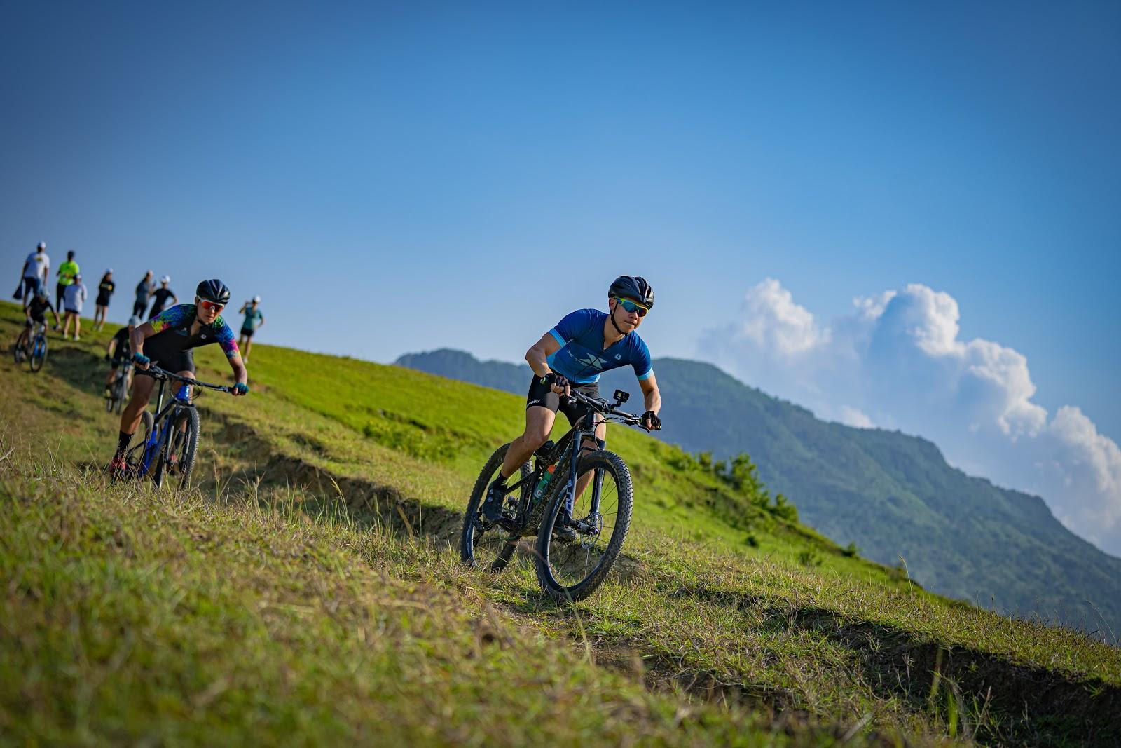
<path id="1" fill-rule="evenodd" d="M 463 351 L 411 353 L 397 363 L 517 395 L 529 387 L 528 366 Z M 747 452 L 768 487 L 837 543 L 905 563 L 912 579 L 943 594 L 1090 631 L 1121 629 L 1121 558 L 1067 530 L 1039 497 L 966 475 L 927 440 L 819 421 L 712 364 L 654 366 L 665 399 L 658 437 L 715 458 Z M 639 394 L 630 369 L 602 377 L 605 395 L 617 387 Z"/>

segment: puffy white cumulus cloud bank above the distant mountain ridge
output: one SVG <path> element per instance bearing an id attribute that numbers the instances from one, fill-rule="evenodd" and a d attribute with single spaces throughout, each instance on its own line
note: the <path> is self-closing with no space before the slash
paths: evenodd
<path id="1" fill-rule="evenodd" d="M 1020 352 L 960 338 L 953 296 L 921 284 L 853 299 L 823 324 L 772 278 L 700 350 L 750 385 L 869 428 L 933 440 L 972 474 L 1043 496 L 1073 532 L 1121 555 L 1121 450 L 1077 407 L 1032 401 Z"/>

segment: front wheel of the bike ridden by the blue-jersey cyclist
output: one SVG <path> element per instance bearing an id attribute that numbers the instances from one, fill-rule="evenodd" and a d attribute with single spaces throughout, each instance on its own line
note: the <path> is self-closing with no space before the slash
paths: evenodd
<path id="1" fill-rule="evenodd" d="M 575 602 L 603 583 L 630 528 L 633 488 L 627 464 L 614 452 L 586 454 L 576 465 L 578 496 L 556 481 L 537 535 L 537 581 L 557 602 Z M 554 533 L 569 510 L 575 538 Z"/>

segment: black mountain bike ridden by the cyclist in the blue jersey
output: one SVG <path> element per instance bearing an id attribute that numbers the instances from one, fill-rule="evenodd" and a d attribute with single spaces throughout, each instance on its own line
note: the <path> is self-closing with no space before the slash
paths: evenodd
<path id="1" fill-rule="evenodd" d="M 619 409 L 629 398 L 622 390 L 615 390 L 614 403 L 583 393 L 568 398 L 586 405 L 596 421 L 641 422 Z M 600 449 L 585 446 L 585 440 Z M 460 555 L 472 566 L 500 572 L 521 538 L 536 535 L 534 565 L 541 590 L 558 602 L 582 600 L 603 583 L 627 539 L 633 504 L 630 471 L 622 458 L 602 449 L 595 423 L 581 418 L 556 444 L 546 442 L 534 453 L 532 469 L 528 462 L 521 465 L 502 516 L 492 523 L 481 511 L 482 501 L 509 447 L 495 450 L 479 473 L 463 518 Z M 572 518 L 566 528 L 558 527 L 562 509 Z"/>

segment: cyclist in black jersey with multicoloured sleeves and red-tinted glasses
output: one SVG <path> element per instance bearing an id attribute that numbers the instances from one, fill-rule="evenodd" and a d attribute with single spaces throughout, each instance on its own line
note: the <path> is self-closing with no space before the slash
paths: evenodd
<path id="1" fill-rule="evenodd" d="M 222 310 L 229 303 L 230 289 L 224 283 L 217 278 L 203 280 L 195 289 L 194 304 L 179 304 L 164 310 L 148 322 L 132 329 L 129 338 L 132 362 L 141 372 L 155 363 L 165 371 L 194 379 L 193 349 L 217 343 L 225 352 L 237 381 L 230 394 L 247 394 L 249 386 L 245 382 L 249 380 L 249 372 L 241 361 L 233 330 L 222 318 Z M 121 413 L 121 433 L 117 440 L 117 452 L 109 464 L 111 472 L 121 472 L 127 468 L 124 452 L 129 449 L 132 434 L 140 425 L 143 409 L 148 407 L 154 385 L 155 380 L 151 377 L 137 377 L 132 382 L 132 397 Z"/>

